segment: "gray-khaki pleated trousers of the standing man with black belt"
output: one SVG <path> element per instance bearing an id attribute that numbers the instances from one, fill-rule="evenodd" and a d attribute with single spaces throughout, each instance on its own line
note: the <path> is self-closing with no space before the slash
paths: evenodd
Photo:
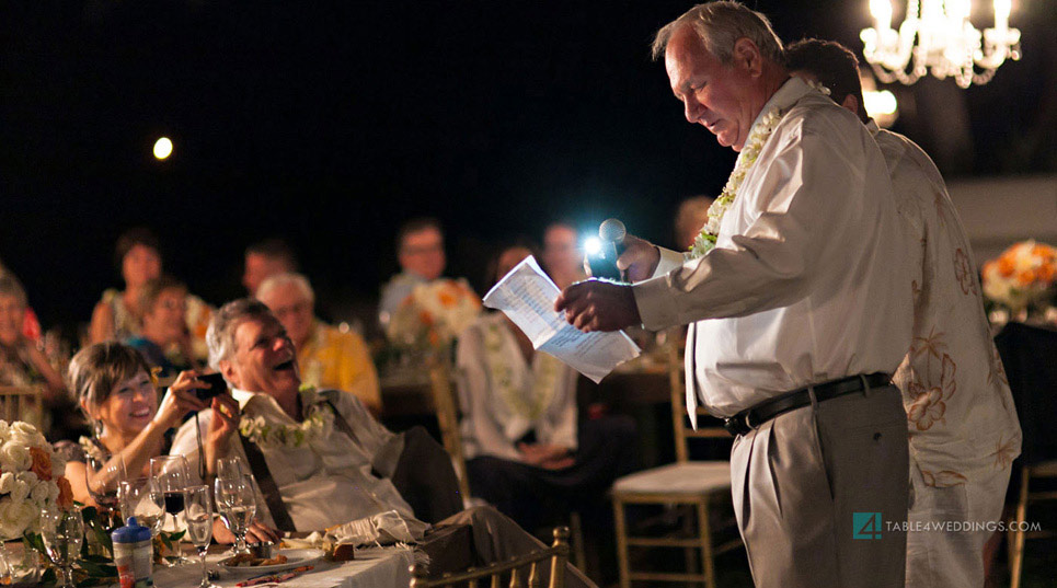
<path id="1" fill-rule="evenodd" d="M 732 491 L 756 586 L 901 588 L 907 535 L 888 523 L 907 520 L 908 468 L 907 415 L 893 385 L 739 436 Z"/>

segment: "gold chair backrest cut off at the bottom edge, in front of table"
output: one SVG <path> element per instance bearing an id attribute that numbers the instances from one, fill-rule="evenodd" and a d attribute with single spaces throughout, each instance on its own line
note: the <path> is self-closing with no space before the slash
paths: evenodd
<path id="1" fill-rule="evenodd" d="M 565 588 L 565 567 L 568 562 L 568 528 L 554 529 L 554 542 L 550 547 L 514 557 L 507 562 L 471 567 L 464 572 L 446 573 L 439 578 L 428 578 L 421 566 L 411 566 L 411 588 L 435 588 L 440 586 L 469 586 L 476 588 L 478 583 L 487 581 L 491 588 L 542 588 L 542 564 L 550 561 L 551 568 L 547 588 Z"/>

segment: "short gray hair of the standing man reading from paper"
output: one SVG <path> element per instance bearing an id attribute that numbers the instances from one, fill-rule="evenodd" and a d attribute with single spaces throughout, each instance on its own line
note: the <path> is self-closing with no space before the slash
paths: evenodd
<path id="1" fill-rule="evenodd" d="M 739 38 L 748 38 L 755 43 L 760 54 L 771 61 L 785 64 L 782 42 L 774 34 L 767 16 L 739 2 L 728 1 L 698 4 L 664 25 L 653 39 L 654 59 L 664 55 L 671 35 L 682 26 L 691 27 L 704 43 L 704 48 L 724 66 L 734 59 L 734 44 Z"/>

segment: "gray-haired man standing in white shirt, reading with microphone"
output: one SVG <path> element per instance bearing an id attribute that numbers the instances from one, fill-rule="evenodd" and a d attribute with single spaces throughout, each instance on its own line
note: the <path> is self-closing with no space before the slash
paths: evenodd
<path id="1" fill-rule="evenodd" d="M 687 404 L 727 418 L 735 511 L 759 587 L 896 587 L 910 343 L 910 244 L 859 120 L 785 70 L 767 19 L 735 2 L 662 28 L 686 117 L 739 152 L 690 253 L 625 240 L 633 286 L 556 301 L 585 331 L 690 323 Z M 648 279 L 647 279 L 648 278 Z"/>

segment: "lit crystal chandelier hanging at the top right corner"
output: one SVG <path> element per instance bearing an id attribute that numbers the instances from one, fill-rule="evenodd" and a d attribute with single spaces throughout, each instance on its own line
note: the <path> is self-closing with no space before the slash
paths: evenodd
<path id="1" fill-rule="evenodd" d="M 968 88 L 989 82 L 1007 58 L 1020 59 L 1020 31 L 1009 27 L 1012 0 L 993 0 L 995 27 L 983 35 L 969 22 L 969 0 L 907 0 L 898 31 L 892 28 L 891 2 L 870 0 L 874 26 L 859 35 L 866 61 L 885 83 L 909 85 L 931 69 Z"/>

